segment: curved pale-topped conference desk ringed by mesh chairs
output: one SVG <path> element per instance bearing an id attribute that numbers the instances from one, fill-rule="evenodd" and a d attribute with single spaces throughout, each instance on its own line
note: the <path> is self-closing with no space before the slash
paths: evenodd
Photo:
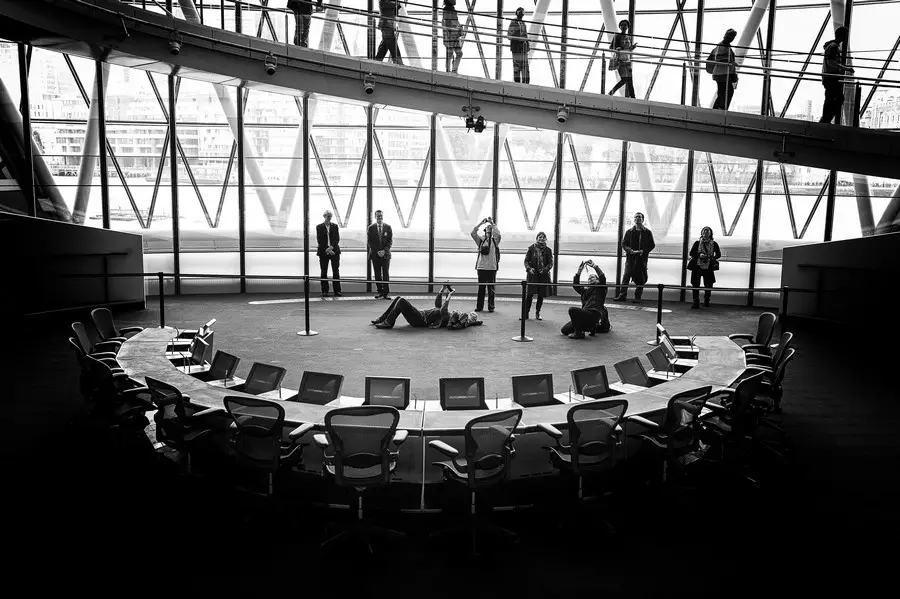
<path id="1" fill-rule="evenodd" d="M 169 341 L 175 337 L 176 331 L 171 328 L 145 329 L 122 344 L 117 359 L 125 372 L 138 380 L 150 376 L 180 389 L 190 395 L 191 401 L 205 408 L 224 409 L 224 398 L 228 395 L 246 395 L 238 391 L 232 391 L 223 387 L 215 387 L 179 370 L 168 358 L 166 347 Z M 669 399 L 681 391 L 694 389 L 704 385 L 712 385 L 713 391 L 731 385 L 744 372 L 746 361 L 744 352 L 736 343 L 727 337 L 697 337 L 694 340 L 695 347 L 699 348 L 697 366 L 691 368 L 678 378 L 654 387 L 649 387 L 635 393 L 622 396 L 628 400 L 626 415 L 640 414 L 650 420 L 658 420 L 662 417 Z M 569 411 L 568 393 L 556 394 L 556 398 L 564 403 L 553 406 L 541 406 L 522 408 L 522 420 L 516 429 L 516 460 L 513 463 L 512 477 L 534 476 L 541 473 L 552 472 L 546 452 L 541 449 L 547 445 L 548 438 L 538 432 L 538 423 L 549 423 L 557 428 L 566 428 L 566 414 Z M 583 399 L 573 395 L 573 402 Z M 331 404 L 320 406 L 297 402 L 282 402 L 285 412 L 285 422 L 291 428 L 304 423 L 312 423 L 314 430 L 324 429 L 325 414 L 329 410 L 347 405 L 360 405 L 362 398 L 342 396 Z M 466 423 L 483 414 L 479 410 L 461 410 L 443 412 L 430 409 L 435 406 L 437 398 L 422 402 L 428 405 L 426 409 L 407 409 L 400 411 L 400 423 L 398 428 L 406 429 L 414 437 L 420 437 L 421 442 L 407 442 L 400 452 L 401 459 L 395 474 L 395 480 L 423 485 L 420 505 L 425 508 L 424 485 L 440 482 L 440 472 L 436 468 L 427 466 L 433 460 L 442 459 L 427 445 L 429 438 L 456 438 L 458 442 L 463 435 Z M 491 405 L 488 401 L 488 405 Z M 510 399 L 498 400 L 500 408 L 514 407 Z M 413 406 L 411 406 L 413 408 Z M 312 433 L 307 433 L 311 435 Z M 305 439 L 305 437 L 304 437 Z M 304 464 L 310 470 L 316 470 L 319 457 L 314 451 L 308 452 L 309 459 L 304 454 Z M 434 454 L 434 455 L 432 455 Z M 538 455 L 540 454 L 540 455 Z M 537 456 L 537 459 L 532 459 Z"/>

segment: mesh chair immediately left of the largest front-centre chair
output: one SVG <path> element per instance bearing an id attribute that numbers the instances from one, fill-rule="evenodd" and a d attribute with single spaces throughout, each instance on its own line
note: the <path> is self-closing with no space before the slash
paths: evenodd
<path id="1" fill-rule="evenodd" d="M 295 429 L 285 440 L 284 408 L 277 402 L 234 395 L 226 396 L 224 402 L 233 421 L 231 446 L 238 462 L 264 471 L 268 478 L 267 494 L 271 495 L 274 474 L 282 462 L 294 463 L 302 456 L 304 445 L 296 439 L 308 428 Z"/>

